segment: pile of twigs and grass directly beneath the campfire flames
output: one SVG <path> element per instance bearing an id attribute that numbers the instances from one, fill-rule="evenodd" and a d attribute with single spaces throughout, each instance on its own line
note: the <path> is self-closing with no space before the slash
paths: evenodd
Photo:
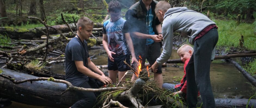
<path id="1" fill-rule="evenodd" d="M 142 71 L 145 71 L 145 70 L 142 70 Z M 140 72 L 140 75 L 141 75 L 141 72 Z M 123 83 L 121 83 L 117 87 L 133 88 L 135 86 L 135 82 L 133 81 L 122 81 L 122 82 Z M 110 86 L 115 86 L 115 85 L 110 85 Z M 116 91 L 102 92 L 100 96 L 98 96 L 97 106 L 104 107 L 106 102 L 111 103 L 112 100 L 118 100 L 118 102 L 120 102 L 120 104 L 123 104 L 123 106 L 131 107 L 130 103 L 129 102 L 127 103 L 126 101 L 127 99 L 124 99 L 124 96 L 123 96 L 123 95 L 129 94 L 127 93 L 127 91 L 129 90 L 116 90 Z M 156 106 L 156 105 L 163 105 L 163 104 L 167 107 L 184 106 L 183 98 L 179 97 L 178 95 L 176 96 L 170 95 L 171 92 L 169 90 L 159 88 L 157 86 L 157 82 L 154 80 L 146 81 L 146 83 L 142 86 L 142 88 L 138 90 L 139 90 L 138 94 L 135 95 L 135 100 L 136 100 L 135 102 L 139 103 L 138 106 L 135 106 L 134 103 L 132 102 L 132 99 L 130 99 L 131 103 L 135 107 L 141 108 L 143 106 Z"/>

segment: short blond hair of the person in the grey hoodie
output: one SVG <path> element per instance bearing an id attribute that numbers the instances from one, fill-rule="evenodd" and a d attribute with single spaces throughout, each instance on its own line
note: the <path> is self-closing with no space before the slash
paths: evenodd
<path id="1" fill-rule="evenodd" d="M 171 5 L 167 1 L 159 1 L 156 4 L 155 13 L 157 13 L 159 10 L 163 11 L 165 13 L 169 8 L 171 8 Z"/>

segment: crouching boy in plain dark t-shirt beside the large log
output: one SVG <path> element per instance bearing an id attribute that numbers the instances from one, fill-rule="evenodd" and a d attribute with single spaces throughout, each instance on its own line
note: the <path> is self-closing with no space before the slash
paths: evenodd
<path id="1" fill-rule="evenodd" d="M 92 88 L 89 77 L 100 82 L 111 84 L 112 81 L 100 71 L 91 61 L 88 53 L 87 42 L 93 30 L 93 21 L 87 17 L 81 17 L 77 22 L 77 34 L 72 38 L 65 49 L 66 81 L 73 86 Z M 93 72 L 92 72 L 93 71 Z M 96 72 L 96 73 L 94 73 Z M 71 108 L 92 108 L 96 101 L 94 92 L 77 91 L 79 100 Z"/>

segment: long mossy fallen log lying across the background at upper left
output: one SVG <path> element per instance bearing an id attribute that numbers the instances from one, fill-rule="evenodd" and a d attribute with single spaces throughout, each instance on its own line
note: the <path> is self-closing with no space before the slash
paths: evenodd
<path id="1" fill-rule="evenodd" d="M 74 23 L 69 24 L 71 29 L 73 31 L 76 31 Z M 56 28 L 59 31 L 62 31 L 62 33 L 70 32 L 70 29 L 66 25 L 54 25 L 53 28 Z M 100 23 L 95 23 L 94 27 L 102 28 L 103 25 Z M 98 28 L 95 28 L 95 30 L 98 30 Z M 38 29 L 38 30 L 36 30 Z M 13 27 L 0 27 L 0 34 L 8 35 L 11 39 L 33 39 L 33 38 L 41 38 L 42 35 L 45 35 L 46 33 L 46 27 L 36 27 L 31 29 L 17 29 Z M 52 34 L 58 34 L 57 31 L 55 31 L 52 28 L 49 28 L 49 35 Z"/>

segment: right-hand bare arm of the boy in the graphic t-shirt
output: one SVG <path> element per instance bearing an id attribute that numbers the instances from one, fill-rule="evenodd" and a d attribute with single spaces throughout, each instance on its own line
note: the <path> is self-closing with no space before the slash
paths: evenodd
<path id="1" fill-rule="evenodd" d="M 133 43 L 132 43 L 130 33 L 125 33 L 124 36 L 125 36 L 125 39 L 126 39 L 126 43 L 129 47 L 129 50 L 132 54 L 132 63 L 137 62 L 137 64 L 139 64 L 139 62 L 138 62 L 138 60 L 136 59 L 136 56 L 135 56 L 134 47 L 133 47 Z"/>

